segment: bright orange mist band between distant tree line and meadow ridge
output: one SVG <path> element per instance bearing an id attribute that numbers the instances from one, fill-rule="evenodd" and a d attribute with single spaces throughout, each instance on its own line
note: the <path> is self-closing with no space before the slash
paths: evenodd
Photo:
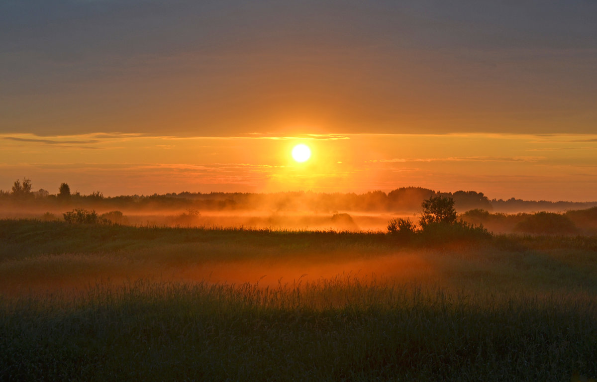
<path id="1" fill-rule="evenodd" d="M 0 210 L 0 218 L 28 218 L 42 221 L 63 221 L 67 207 L 51 210 L 23 208 Z M 136 227 L 186 227 L 210 229 L 322 230 L 338 232 L 387 232 L 388 223 L 396 218 L 417 223 L 420 214 L 342 211 L 334 213 L 312 211 L 199 211 L 193 208 L 173 210 L 83 210 L 93 212 L 103 224 Z M 71 211 L 76 211 L 71 210 Z M 586 210 L 556 212 L 518 212 L 504 214 L 485 210 L 470 210 L 458 214 L 458 219 L 482 226 L 490 232 L 531 235 L 596 235 L 597 207 Z"/>

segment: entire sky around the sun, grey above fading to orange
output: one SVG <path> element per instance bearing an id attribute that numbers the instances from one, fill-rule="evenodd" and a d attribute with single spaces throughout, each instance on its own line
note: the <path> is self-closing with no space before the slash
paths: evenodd
<path id="1" fill-rule="evenodd" d="M 596 17 L 580 0 L 4 0 L 0 189 L 595 201 Z"/>

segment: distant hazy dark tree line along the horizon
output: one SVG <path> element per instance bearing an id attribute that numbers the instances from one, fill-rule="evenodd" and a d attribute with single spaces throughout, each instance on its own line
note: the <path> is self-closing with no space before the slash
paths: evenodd
<path id="1" fill-rule="evenodd" d="M 0 191 L 0 201 L 16 201 L 51 204 L 71 202 L 74 207 L 97 208 L 155 208 L 181 209 L 194 208 L 205 211 L 223 210 L 268 210 L 268 211 L 313 211 L 321 213 L 337 213 L 340 211 L 376 211 L 376 212 L 416 212 L 423 201 L 441 196 L 451 198 L 459 212 L 484 210 L 488 212 L 498 208 L 500 211 L 512 206 L 521 210 L 571 210 L 597 206 L 597 202 L 545 202 L 522 201 L 521 199 L 488 199 L 482 192 L 459 190 L 456 192 L 438 192 L 423 187 L 399 187 L 390 192 L 380 190 L 367 193 L 316 193 L 275 192 L 275 193 L 242 193 L 242 192 L 181 192 L 162 195 L 122 195 L 104 197 L 97 191 L 89 195 L 71 192 L 67 183 L 61 183 L 57 193 L 44 189 L 32 191 L 32 182 L 28 178 L 16 180 L 10 192 Z"/>

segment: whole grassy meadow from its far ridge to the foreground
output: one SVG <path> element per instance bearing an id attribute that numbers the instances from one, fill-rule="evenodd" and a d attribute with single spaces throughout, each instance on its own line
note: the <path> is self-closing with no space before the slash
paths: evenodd
<path id="1" fill-rule="evenodd" d="M 0 380 L 597 377 L 597 236 L 0 220 L 0 243 Z"/>

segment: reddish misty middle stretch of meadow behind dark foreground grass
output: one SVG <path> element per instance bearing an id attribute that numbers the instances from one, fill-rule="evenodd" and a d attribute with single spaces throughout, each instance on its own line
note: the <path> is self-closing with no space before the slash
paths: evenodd
<path id="1" fill-rule="evenodd" d="M 260 287 L 358 278 L 456 290 L 594 288 L 594 237 L 405 245 L 383 233 L 195 230 L 0 221 L 0 293 L 145 279 Z M 575 289 L 576 290 L 576 289 Z M 597 292 L 597 290 L 595 290 Z"/>

